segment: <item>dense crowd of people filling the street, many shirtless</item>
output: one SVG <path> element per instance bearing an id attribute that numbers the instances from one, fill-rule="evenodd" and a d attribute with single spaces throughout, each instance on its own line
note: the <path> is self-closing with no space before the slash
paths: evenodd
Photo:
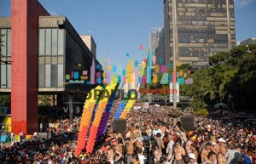
<path id="1" fill-rule="evenodd" d="M 194 116 L 195 128 L 185 132 L 179 118 L 169 115 L 169 106 L 150 105 L 148 110 L 131 110 L 125 132 L 117 133 L 111 122 L 118 105 L 113 105 L 108 132 L 98 137 L 93 154 L 84 150 L 74 156 L 79 118 L 59 119 L 48 123 L 49 138 L 22 139 L 0 147 L 0 163 L 256 163 L 253 122 Z"/>

